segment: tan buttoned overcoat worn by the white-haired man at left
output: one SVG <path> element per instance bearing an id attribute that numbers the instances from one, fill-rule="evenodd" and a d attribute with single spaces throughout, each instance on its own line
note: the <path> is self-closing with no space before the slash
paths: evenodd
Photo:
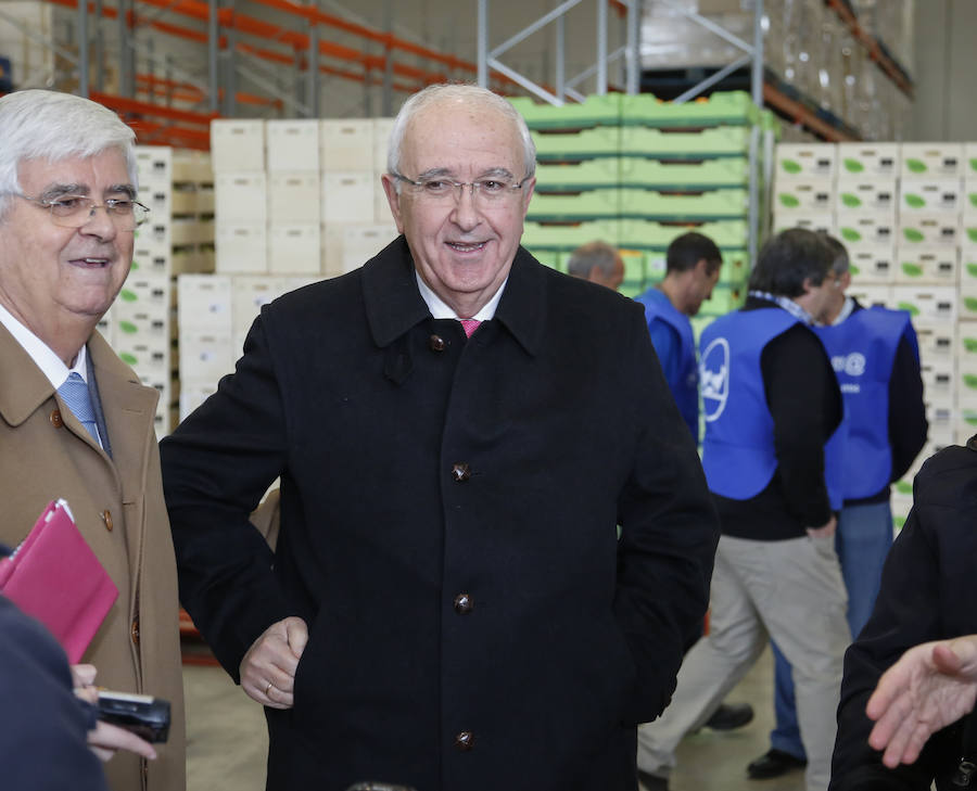
<path id="1" fill-rule="evenodd" d="M 158 758 L 118 753 L 105 764 L 113 791 L 186 788 L 183 687 L 176 566 L 153 430 L 157 393 L 96 332 L 88 354 L 112 458 L 61 401 L 43 372 L 0 326 L 0 541 L 15 546 L 51 500 L 67 500 L 81 535 L 119 595 L 81 658 L 97 684 L 166 698 L 173 725 Z"/>

